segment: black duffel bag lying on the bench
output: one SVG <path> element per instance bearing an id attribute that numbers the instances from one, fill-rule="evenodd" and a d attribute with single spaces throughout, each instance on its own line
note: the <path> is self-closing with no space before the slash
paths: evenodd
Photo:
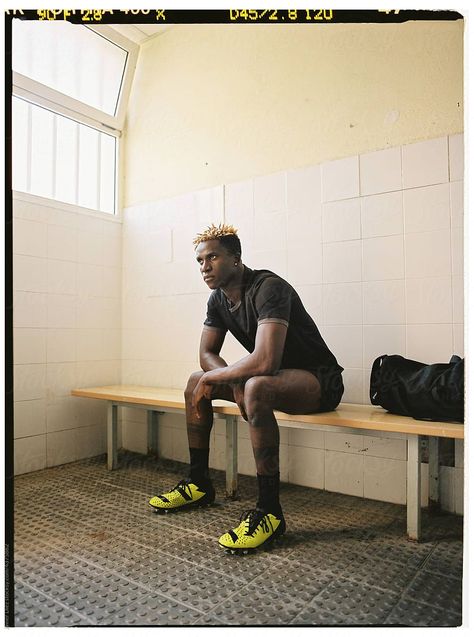
<path id="1" fill-rule="evenodd" d="M 427 365 L 403 356 L 375 359 L 370 401 L 387 411 L 418 420 L 464 422 L 464 359 Z"/>

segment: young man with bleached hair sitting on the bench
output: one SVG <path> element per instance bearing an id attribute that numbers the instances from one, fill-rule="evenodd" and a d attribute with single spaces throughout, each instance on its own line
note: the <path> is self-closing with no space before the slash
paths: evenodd
<path id="1" fill-rule="evenodd" d="M 212 504 L 209 437 L 212 399 L 237 403 L 249 423 L 257 470 L 258 500 L 240 524 L 221 536 L 223 548 L 247 552 L 284 533 L 279 501 L 279 429 L 273 411 L 330 411 L 344 386 L 338 365 L 296 291 L 268 270 L 242 263 L 236 230 L 211 225 L 194 240 L 204 282 L 212 290 L 201 335 L 202 371 L 185 390 L 189 476 L 150 500 L 158 513 Z M 220 356 L 227 331 L 249 354 L 228 365 Z"/>

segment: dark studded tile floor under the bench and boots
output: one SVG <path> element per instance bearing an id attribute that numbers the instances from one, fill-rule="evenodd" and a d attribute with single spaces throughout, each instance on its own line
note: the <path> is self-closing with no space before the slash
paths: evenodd
<path id="1" fill-rule="evenodd" d="M 15 625 L 458 626 L 462 518 L 423 512 L 421 543 L 404 506 L 283 484 L 288 530 L 267 551 L 227 555 L 217 537 L 255 502 L 156 515 L 148 498 L 180 463 L 126 453 L 15 480 Z"/>

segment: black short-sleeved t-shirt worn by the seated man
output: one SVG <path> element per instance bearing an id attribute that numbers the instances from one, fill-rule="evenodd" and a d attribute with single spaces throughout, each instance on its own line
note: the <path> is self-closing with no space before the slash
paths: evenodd
<path id="1" fill-rule="evenodd" d="M 322 373 L 343 370 L 296 290 L 269 270 L 251 270 L 244 266 L 240 303 L 231 306 L 220 288 L 213 290 L 207 302 L 204 325 L 229 330 L 248 352 L 253 352 L 261 323 L 282 323 L 288 327 L 281 369 Z"/>

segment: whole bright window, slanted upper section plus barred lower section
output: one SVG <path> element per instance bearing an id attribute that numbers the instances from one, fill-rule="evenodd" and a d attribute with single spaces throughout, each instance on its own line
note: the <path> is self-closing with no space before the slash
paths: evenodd
<path id="1" fill-rule="evenodd" d="M 110 27 L 13 20 L 13 188 L 115 213 L 138 46 Z"/>

